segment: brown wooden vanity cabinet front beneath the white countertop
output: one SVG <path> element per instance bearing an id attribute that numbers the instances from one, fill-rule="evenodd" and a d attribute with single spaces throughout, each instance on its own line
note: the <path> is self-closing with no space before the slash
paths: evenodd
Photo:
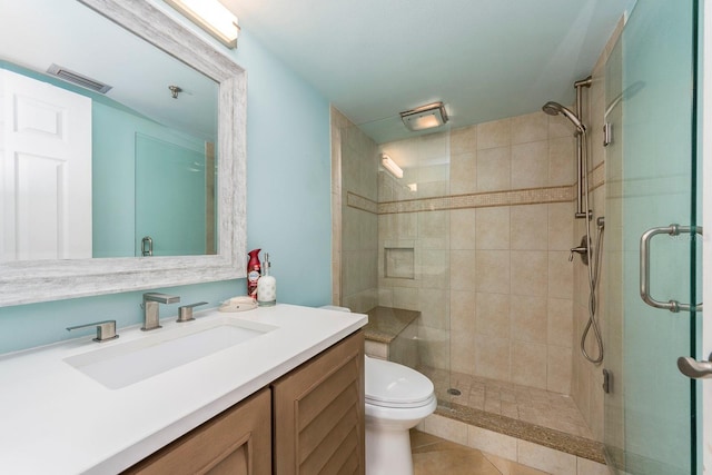
<path id="1" fill-rule="evenodd" d="M 364 334 L 357 331 L 126 474 L 364 474 Z"/>

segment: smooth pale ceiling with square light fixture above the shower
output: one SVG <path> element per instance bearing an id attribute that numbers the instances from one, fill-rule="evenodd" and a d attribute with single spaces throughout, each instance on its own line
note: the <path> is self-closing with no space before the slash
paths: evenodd
<path id="1" fill-rule="evenodd" d="M 635 0 L 220 0 L 377 142 L 443 101 L 452 128 L 574 100 Z M 239 40 L 238 40 L 239 43 Z M 239 48 L 239 44 L 238 44 Z"/>

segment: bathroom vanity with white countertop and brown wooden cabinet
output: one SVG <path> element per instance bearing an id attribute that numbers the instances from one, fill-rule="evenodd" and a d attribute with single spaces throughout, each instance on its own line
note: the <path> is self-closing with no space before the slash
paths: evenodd
<path id="1" fill-rule="evenodd" d="M 109 343 L 88 336 L 0 358 L 0 472 L 364 466 L 365 315 L 277 305 L 196 317 L 164 319 L 150 333 L 119 329 Z M 199 347 L 195 335 L 216 328 L 257 335 L 148 376 L 92 373 L 126 355 L 160 359 L 160 348 L 181 352 L 184 340 Z"/>

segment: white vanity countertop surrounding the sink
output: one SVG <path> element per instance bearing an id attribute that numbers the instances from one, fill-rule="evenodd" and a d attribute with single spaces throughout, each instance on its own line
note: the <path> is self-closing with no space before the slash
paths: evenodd
<path id="1" fill-rule="evenodd" d="M 236 318 L 277 329 L 120 389 L 65 358 L 195 324 L 161 320 L 150 333 L 119 328 L 0 357 L 0 473 L 109 474 L 227 409 L 364 326 L 368 317 L 291 305 L 243 313 L 196 313 L 196 321 Z"/>

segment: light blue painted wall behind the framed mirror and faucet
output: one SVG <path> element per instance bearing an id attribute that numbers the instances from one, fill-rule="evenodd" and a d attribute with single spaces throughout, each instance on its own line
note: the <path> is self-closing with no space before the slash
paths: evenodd
<path id="1" fill-rule="evenodd" d="M 194 28 L 187 21 L 184 23 Z M 245 30 L 237 50 L 216 48 L 233 56 L 248 75 L 248 250 L 260 247 L 269 253 L 278 301 L 328 304 L 329 103 Z M 208 300 L 217 306 L 230 296 L 245 295 L 245 279 L 236 279 L 158 290 L 178 294 L 182 303 Z M 65 328 L 70 325 L 105 318 L 116 318 L 119 328 L 138 324 L 140 296 L 141 293 L 134 291 L 2 307 L 0 354 L 81 336 L 69 335 Z M 161 316 L 177 313 L 177 305 L 162 307 Z M 92 331 L 88 329 L 86 335 Z"/>

